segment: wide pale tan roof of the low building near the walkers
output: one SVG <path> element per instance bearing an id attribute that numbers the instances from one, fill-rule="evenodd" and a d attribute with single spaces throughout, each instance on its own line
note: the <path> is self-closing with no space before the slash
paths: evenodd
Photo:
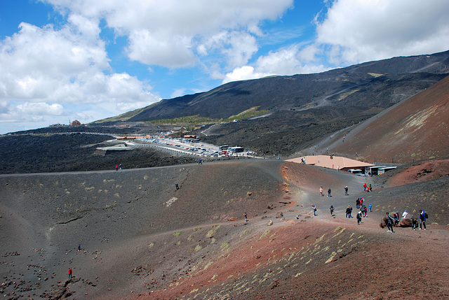
<path id="1" fill-rule="evenodd" d="M 358 160 L 349 159 L 347 157 L 333 156 L 330 155 L 312 155 L 303 156 L 306 159 L 306 164 L 314 164 L 316 166 L 322 166 L 323 168 L 338 169 L 364 169 L 367 166 L 375 166 L 374 164 L 368 164 L 367 162 L 358 162 Z M 297 162 L 301 163 L 303 157 L 288 159 L 287 162 Z"/>

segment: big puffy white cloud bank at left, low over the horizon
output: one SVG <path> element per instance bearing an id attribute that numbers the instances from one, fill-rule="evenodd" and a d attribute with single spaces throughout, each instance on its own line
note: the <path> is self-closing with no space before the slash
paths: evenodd
<path id="1" fill-rule="evenodd" d="M 37 122 L 39 127 L 74 115 L 91 122 L 159 101 L 152 87 L 135 76 L 110 72 L 95 18 L 70 15 L 68 20 L 60 29 L 22 22 L 17 33 L 0 41 L 2 122 Z"/>

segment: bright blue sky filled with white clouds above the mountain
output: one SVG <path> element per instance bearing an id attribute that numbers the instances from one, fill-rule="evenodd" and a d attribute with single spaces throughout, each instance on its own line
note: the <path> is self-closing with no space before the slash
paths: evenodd
<path id="1" fill-rule="evenodd" d="M 449 50 L 441 0 L 0 1 L 0 134 Z"/>

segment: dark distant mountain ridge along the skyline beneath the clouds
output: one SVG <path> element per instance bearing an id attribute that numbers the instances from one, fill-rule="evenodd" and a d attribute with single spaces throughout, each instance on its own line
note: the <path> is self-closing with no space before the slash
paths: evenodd
<path id="1" fill-rule="evenodd" d="M 256 106 L 259 110 L 388 108 L 447 76 L 448 67 L 446 51 L 394 57 L 317 74 L 243 80 L 209 92 L 165 99 L 109 120 L 141 122 L 189 115 L 226 119 Z"/>

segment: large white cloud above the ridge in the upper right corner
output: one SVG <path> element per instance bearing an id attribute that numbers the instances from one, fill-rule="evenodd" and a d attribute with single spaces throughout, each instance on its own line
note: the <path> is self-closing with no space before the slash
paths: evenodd
<path id="1" fill-rule="evenodd" d="M 449 49 L 447 1 L 339 0 L 318 22 L 316 43 L 333 48 L 335 64 Z"/>

